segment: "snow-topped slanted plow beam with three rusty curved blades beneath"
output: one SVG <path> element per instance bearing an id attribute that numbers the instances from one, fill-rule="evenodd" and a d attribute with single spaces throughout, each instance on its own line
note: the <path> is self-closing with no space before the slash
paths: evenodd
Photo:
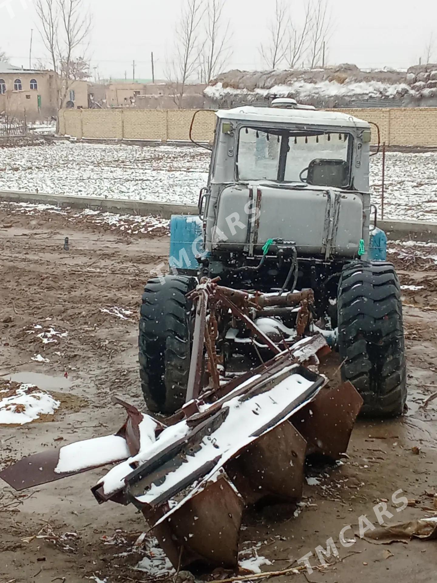
<path id="1" fill-rule="evenodd" d="M 300 364 L 271 367 L 179 422 L 192 426 L 186 438 L 126 476 L 126 496 L 175 568 L 236 567 L 243 507 L 296 501 L 306 456 L 346 451 L 362 399 L 350 384 L 323 384 Z"/>

